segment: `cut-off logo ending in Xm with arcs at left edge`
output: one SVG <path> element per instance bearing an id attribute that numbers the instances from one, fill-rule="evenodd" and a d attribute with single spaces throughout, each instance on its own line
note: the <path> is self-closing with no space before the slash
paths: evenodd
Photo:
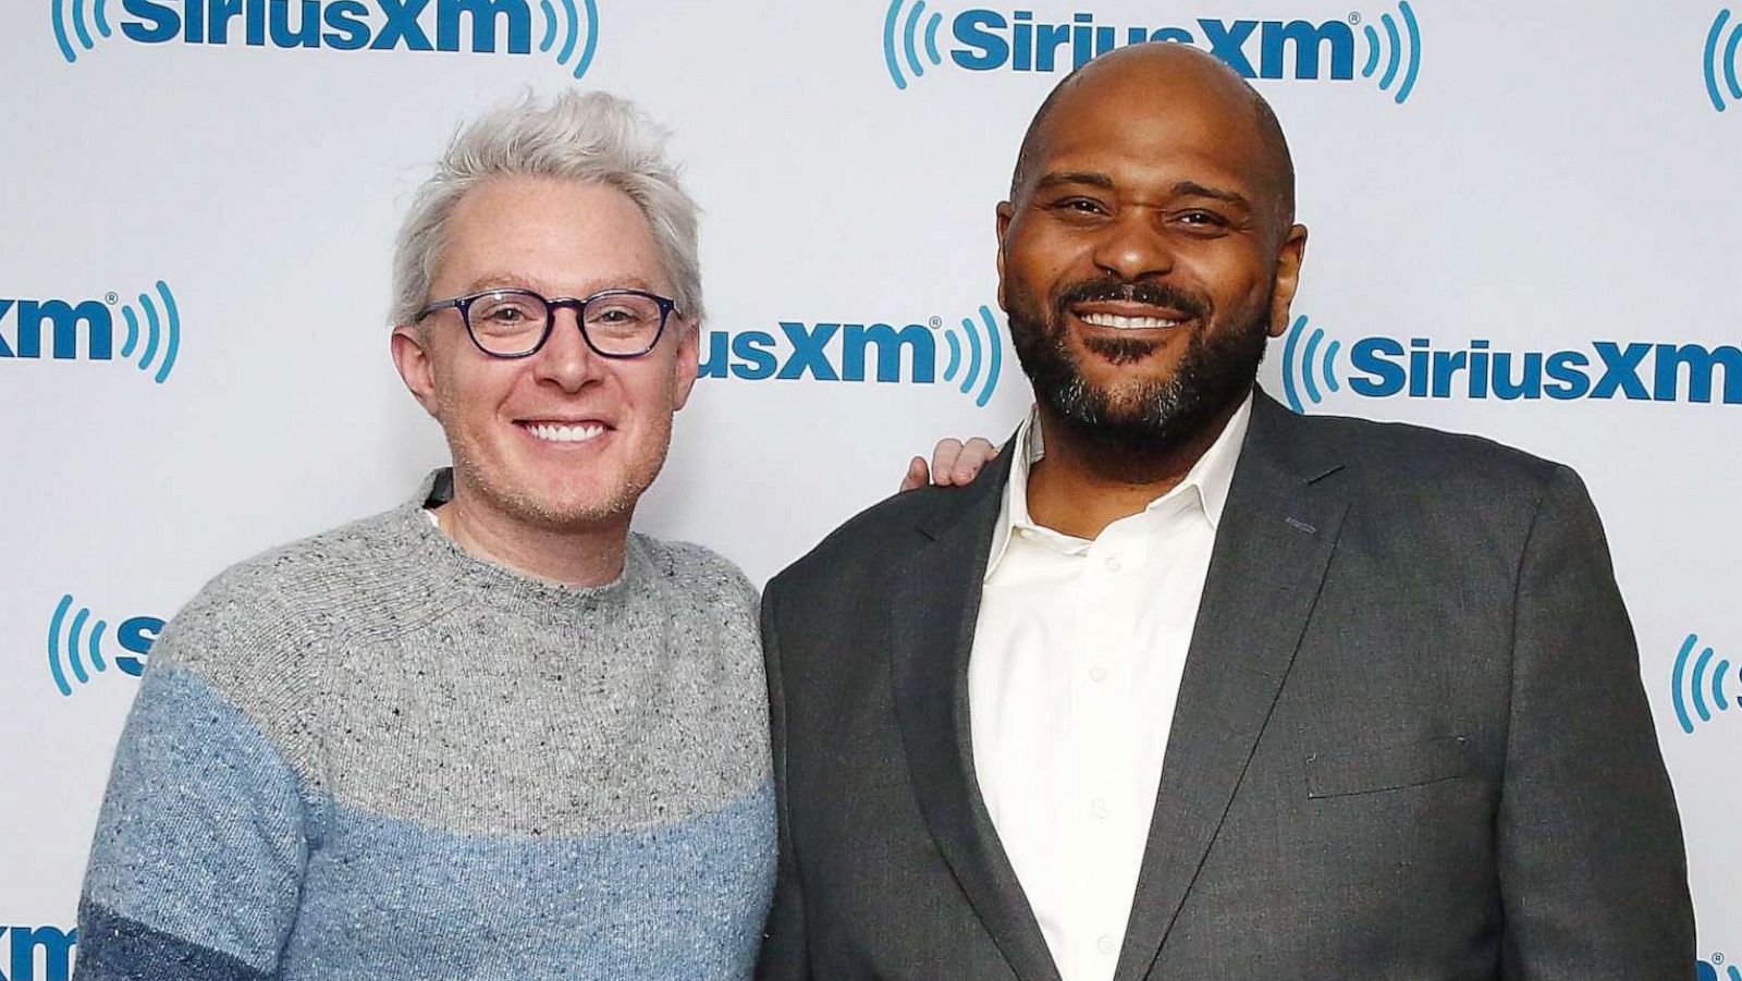
<path id="1" fill-rule="evenodd" d="M 115 357 L 115 314 L 110 310 L 120 296 L 110 293 L 103 300 L 5 300 L 0 298 L 0 359 L 40 359 L 44 328 L 52 331 L 51 355 L 71 361 L 78 352 L 78 328 L 84 326 L 84 357 L 111 361 Z M 159 312 L 162 305 L 162 312 Z M 138 307 L 138 310 L 134 308 Z M 159 385 L 169 380 L 181 350 L 181 314 L 176 296 L 164 281 L 157 281 L 157 294 L 139 293 L 138 303 L 120 303 L 127 321 L 127 340 L 120 355 L 138 359 Z M 7 343 L 5 322 L 12 319 L 12 342 Z"/>

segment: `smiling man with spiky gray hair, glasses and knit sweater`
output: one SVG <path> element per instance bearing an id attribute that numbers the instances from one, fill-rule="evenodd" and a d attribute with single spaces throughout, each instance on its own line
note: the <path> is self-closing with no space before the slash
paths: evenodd
<path id="1" fill-rule="evenodd" d="M 394 362 L 453 467 L 164 631 L 77 976 L 747 976 L 775 859 L 756 591 L 629 530 L 702 315 L 664 132 L 604 94 L 476 120 L 394 277 Z"/>

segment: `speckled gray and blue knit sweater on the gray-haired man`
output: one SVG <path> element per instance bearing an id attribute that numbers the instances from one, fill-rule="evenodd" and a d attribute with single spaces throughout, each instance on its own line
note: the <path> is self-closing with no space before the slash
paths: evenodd
<path id="1" fill-rule="evenodd" d="M 756 592 L 632 535 L 603 587 L 413 502 L 165 627 L 78 910 L 80 981 L 747 978 L 773 882 Z"/>

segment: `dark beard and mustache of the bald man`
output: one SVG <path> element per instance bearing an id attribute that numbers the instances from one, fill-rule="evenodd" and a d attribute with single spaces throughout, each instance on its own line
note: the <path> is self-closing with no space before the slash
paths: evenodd
<path id="1" fill-rule="evenodd" d="M 1096 387 L 1084 376 L 1066 328 L 1073 305 L 1096 300 L 1172 308 L 1202 328 L 1185 338 L 1186 348 L 1167 378 Z M 1266 291 L 1263 303 L 1230 314 L 1235 322 L 1225 324 L 1198 293 L 1160 282 L 1096 279 L 1061 293 L 1049 314 L 1026 294 L 1012 293 L 1007 314 L 1010 343 L 1035 397 L 1071 430 L 1073 441 L 1103 455 L 1141 460 L 1190 444 L 1251 392 L 1268 342 L 1270 300 Z M 1082 338 L 1082 345 L 1111 364 L 1134 364 L 1160 342 L 1094 336 Z"/>

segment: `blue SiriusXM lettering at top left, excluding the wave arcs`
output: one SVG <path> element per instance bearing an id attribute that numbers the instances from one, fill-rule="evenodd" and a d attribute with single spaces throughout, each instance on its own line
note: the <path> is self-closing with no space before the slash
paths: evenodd
<path id="1" fill-rule="evenodd" d="M 143 44 L 531 52 L 530 0 L 122 0 Z M 434 12 L 434 16 L 425 16 Z M 434 24 L 434 37 L 430 31 Z"/>

